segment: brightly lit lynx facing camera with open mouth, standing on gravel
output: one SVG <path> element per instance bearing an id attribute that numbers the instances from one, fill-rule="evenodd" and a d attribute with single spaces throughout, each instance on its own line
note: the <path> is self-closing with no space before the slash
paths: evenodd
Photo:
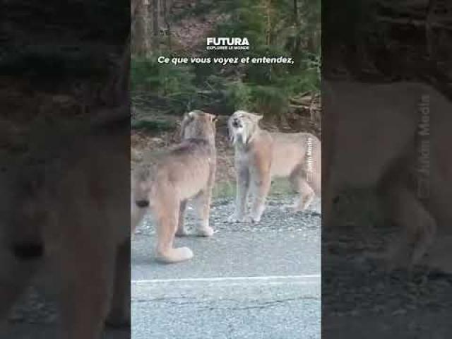
<path id="1" fill-rule="evenodd" d="M 258 222 L 273 177 L 288 178 L 299 192 L 294 211 L 304 210 L 321 194 L 321 143 L 311 133 L 270 133 L 258 126 L 262 117 L 237 111 L 228 120 L 235 148 L 237 198 L 232 222 Z M 246 215 L 248 195 L 251 213 Z"/>

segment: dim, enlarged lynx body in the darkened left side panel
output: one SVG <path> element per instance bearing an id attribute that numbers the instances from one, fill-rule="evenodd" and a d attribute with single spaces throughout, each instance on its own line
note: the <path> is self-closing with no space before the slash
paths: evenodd
<path id="1" fill-rule="evenodd" d="M 0 321 L 34 278 L 56 292 L 58 338 L 100 339 L 108 314 L 114 323 L 130 322 L 126 120 L 124 126 L 62 145 L 57 139 L 44 145 L 53 155 L 11 160 L 1 172 Z"/>

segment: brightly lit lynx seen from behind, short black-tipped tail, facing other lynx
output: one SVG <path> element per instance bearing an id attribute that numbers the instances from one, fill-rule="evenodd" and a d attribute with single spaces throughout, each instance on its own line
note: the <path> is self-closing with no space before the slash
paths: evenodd
<path id="1" fill-rule="evenodd" d="M 215 121 L 212 114 L 194 111 L 182 121 L 182 143 L 168 150 L 156 163 L 145 163 L 133 175 L 133 229 L 145 215 L 148 202 L 157 223 L 157 259 L 176 263 L 193 257 L 188 247 L 174 248 L 174 236 L 187 234 L 184 211 L 194 199 L 198 214 L 197 235 L 210 237 L 210 199 L 215 181 Z"/>

